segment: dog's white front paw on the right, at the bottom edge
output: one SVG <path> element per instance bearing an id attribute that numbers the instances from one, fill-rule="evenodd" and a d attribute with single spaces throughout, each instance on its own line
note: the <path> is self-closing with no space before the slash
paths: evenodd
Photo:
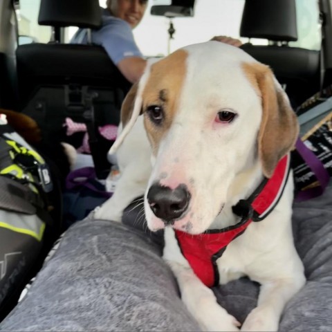
<path id="1" fill-rule="evenodd" d="M 253 309 L 243 322 L 241 331 L 277 331 L 279 321 L 268 308 Z"/>

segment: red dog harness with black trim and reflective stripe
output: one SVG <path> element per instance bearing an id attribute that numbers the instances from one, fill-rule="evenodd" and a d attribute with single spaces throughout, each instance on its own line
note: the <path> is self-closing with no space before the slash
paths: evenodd
<path id="1" fill-rule="evenodd" d="M 209 287 L 219 284 L 216 260 L 223 255 L 226 246 L 239 237 L 252 221 L 263 220 L 275 208 L 287 182 L 289 164 L 290 156 L 287 154 L 279 161 L 271 178 L 265 178 L 249 199 L 239 201 L 232 208 L 234 214 L 241 216 L 236 225 L 197 235 L 175 230 L 183 256 L 203 284 Z"/>

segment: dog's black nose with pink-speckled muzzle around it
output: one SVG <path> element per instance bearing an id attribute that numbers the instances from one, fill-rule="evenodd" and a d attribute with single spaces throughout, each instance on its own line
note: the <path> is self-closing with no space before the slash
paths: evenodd
<path id="1" fill-rule="evenodd" d="M 155 183 L 147 192 L 147 201 L 151 210 L 165 225 L 172 225 L 187 210 L 190 192 L 186 185 L 179 185 L 174 190 Z"/>

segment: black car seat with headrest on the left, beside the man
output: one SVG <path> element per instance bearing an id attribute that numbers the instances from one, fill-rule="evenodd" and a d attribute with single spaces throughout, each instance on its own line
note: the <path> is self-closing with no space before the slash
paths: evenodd
<path id="1" fill-rule="evenodd" d="M 96 0 L 42 0 L 38 23 L 53 27 L 48 44 L 17 47 L 20 109 L 34 118 L 44 140 L 66 140 L 64 118 L 85 122 L 91 154 L 99 178 L 109 170 L 111 142 L 98 126 L 118 124 L 120 106 L 131 84 L 101 46 L 61 44 L 62 27 L 99 28 L 101 9 Z M 74 146 L 80 143 L 70 141 Z"/>

